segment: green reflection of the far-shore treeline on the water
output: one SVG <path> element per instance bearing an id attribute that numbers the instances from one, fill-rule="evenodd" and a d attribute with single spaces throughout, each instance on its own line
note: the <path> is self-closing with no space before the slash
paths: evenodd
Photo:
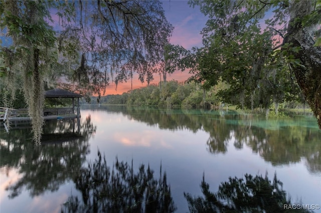
<path id="1" fill-rule="evenodd" d="M 229 143 L 237 149 L 251 147 L 272 165 L 290 164 L 306 159 L 311 173 L 321 172 L 321 131 L 314 122 L 284 115 L 268 119 L 235 111 L 157 109 L 132 106 L 101 106 L 98 110 L 125 114 L 128 119 L 145 122 L 161 129 L 204 130 L 209 133 L 206 149 L 214 154 L 226 153 Z"/>

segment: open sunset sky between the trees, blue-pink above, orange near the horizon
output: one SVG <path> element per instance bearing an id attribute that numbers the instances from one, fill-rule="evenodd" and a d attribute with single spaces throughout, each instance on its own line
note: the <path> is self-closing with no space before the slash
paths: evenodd
<path id="1" fill-rule="evenodd" d="M 167 20 L 173 24 L 174 32 L 170 38 L 170 42 L 174 45 L 182 45 L 187 49 L 193 46 L 202 46 L 202 35 L 200 31 L 205 26 L 206 17 L 200 12 L 199 7 L 191 8 L 187 0 L 163 0 L 163 8 Z M 176 71 L 167 76 L 167 80 L 185 81 L 190 76 L 188 71 Z M 159 75 L 154 75 L 154 80 L 151 83 L 157 84 L 159 82 Z M 131 88 L 130 80 L 119 83 L 117 90 L 115 84 L 109 82 L 105 94 L 122 94 Z M 133 89 L 146 86 L 146 83 L 141 83 L 137 75 L 133 77 Z"/>

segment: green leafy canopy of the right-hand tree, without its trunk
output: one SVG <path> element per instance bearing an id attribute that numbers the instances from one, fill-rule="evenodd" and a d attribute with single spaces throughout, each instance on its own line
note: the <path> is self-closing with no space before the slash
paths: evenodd
<path id="1" fill-rule="evenodd" d="M 240 108 L 269 108 L 272 102 L 281 103 L 289 97 L 301 100 L 291 69 L 304 65 L 289 54 L 300 51 L 300 47 L 281 43 L 287 28 L 277 27 L 286 25 L 284 11 L 290 2 L 190 0 L 189 3 L 200 6 L 209 18 L 201 31 L 204 47 L 193 48 L 191 52 L 181 46 L 168 46 L 167 58 L 173 61 L 169 69 L 190 68 L 193 75 L 189 81 L 201 83 L 206 90 L 221 82 L 229 85 L 214 95 L 210 93 L 215 99 Z M 319 22 L 319 3 L 315 5 L 303 25 Z M 260 21 L 271 9 L 274 16 L 266 19 L 267 26 L 262 28 Z M 177 95 L 174 102 L 179 102 Z"/>

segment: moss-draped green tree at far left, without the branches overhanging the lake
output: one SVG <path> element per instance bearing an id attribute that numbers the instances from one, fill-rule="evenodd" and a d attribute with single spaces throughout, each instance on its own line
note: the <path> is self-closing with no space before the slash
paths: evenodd
<path id="1" fill-rule="evenodd" d="M 44 119 L 43 79 L 55 44 L 55 31 L 48 24 L 51 2 L 1 1 L 1 30 L 12 40 L 2 47 L 2 81 L 14 94 L 22 79 L 23 90 L 32 117 L 34 139 L 40 142 Z M 12 95 L 14 98 L 14 95 Z"/>

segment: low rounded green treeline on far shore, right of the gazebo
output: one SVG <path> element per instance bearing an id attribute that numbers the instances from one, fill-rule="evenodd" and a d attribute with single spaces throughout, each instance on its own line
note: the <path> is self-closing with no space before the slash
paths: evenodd
<path id="1" fill-rule="evenodd" d="M 219 95 L 229 85 L 220 82 L 210 89 L 205 90 L 201 83 L 183 83 L 177 80 L 162 82 L 161 85 L 151 84 L 146 87 L 136 88 L 122 94 L 109 94 L 102 96 L 101 104 L 127 104 L 139 106 L 183 107 L 183 108 L 212 108 L 217 109 L 226 104 Z M 289 96 L 288 96 L 289 97 Z M 97 98 L 92 98 L 97 99 Z M 303 108 L 305 101 L 298 95 L 284 98 L 279 102 L 271 101 L 269 108 Z"/>

